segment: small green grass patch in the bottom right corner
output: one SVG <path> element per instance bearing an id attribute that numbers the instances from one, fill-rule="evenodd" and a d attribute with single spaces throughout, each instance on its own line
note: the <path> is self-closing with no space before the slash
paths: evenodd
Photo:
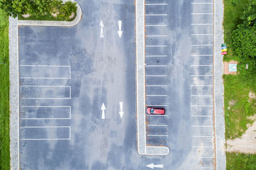
<path id="1" fill-rule="evenodd" d="M 255 170 L 256 155 L 227 153 L 227 170 Z"/>

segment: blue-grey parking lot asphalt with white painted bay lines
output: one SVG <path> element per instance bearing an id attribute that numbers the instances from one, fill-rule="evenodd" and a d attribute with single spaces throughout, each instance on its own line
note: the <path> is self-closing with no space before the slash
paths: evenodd
<path id="1" fill-rule="evenodd" d="M 166 109 L 147 115 L 147 145 L 166 156 L 137 150 L 133 1 L 78 1 L 75 27 L 19 27 L 20 168 L 214 169 L 213 4 L 193 2 L 145 4 L 146 105 Z"/>

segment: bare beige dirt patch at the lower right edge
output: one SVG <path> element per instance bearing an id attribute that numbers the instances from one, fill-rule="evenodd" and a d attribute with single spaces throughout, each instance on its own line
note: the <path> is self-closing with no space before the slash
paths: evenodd
<path id="1" fill-rule="evenodd" d="M 256 120 L 256 115 L 249 117 Z M 227 140 L 227 152 L 256 153 L 256 121 L 244 132 L 241 138 Z"/>

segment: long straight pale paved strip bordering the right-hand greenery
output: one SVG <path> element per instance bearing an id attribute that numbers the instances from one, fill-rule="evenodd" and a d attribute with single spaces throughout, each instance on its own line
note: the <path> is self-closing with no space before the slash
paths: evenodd
<path id="1" fill-rule="evenodd" d="M 223 87 L 223 56 L 221 43 L 224 35 L 223 1 L 214 1 L 214 111 L 215 111 L 215 143 L 216 143 L 216 169 L 226 169 L 225 153 L 225 111 Z"/>

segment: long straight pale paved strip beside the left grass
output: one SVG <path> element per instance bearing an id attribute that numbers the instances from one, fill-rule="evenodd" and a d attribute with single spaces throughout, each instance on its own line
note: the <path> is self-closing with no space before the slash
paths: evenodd
<path id="1" fill-rule="evenodd" d="M 19 169 L 19 39 L 17 21 L 17 18 L 9 17 L 11 169 Z"/>

